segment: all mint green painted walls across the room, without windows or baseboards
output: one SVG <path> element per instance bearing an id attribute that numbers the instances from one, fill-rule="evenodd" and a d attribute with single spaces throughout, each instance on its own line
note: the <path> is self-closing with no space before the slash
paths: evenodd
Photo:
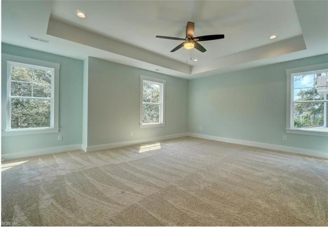
<path id="1" fill-rule="evenodd" d="M 326 137 L 285 133 L 285 70 L 325 63 L 328 55 L 187 81 L 93 57 L 80 61 L 4 43 L 2 53 L 60 64 L 60 132 L 2 137 L 3 154 L 184 132 L 328 152 Z M 140 75 L 167 81 L 165 127 L 139 127 Z M 2 88 L 5 77 L 3 66 Z M 63 141 L 57 141 L 59 134 Z"/>

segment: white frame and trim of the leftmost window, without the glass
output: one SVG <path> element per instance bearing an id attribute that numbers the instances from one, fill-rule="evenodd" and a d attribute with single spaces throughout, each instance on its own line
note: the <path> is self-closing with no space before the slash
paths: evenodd
<path id="1" fill-rule="evenodd" d="M 60 65 L 54 62 L 42 61 L 32 58 L 25 58 L 15 55 L 2 54 L 2 65 L 6 65 L 7 67 L 7 91 L 5 97 L 5 109 L 3 112 L 5 113 L 2 117 L 6 118 L 6 128 L 2 130 L 2 136 L 9 135 L 26 135 L 26 134 L 42 134 L 42 133 L 55 133 L 59 131 L 59 69 Z M 4 62 L 5 61 L 5 62 Z M 53 72 L 51 77 L 51 109 L 50 109 L 50 127 L 40 127 L 40 128 L 11 128 L 11 83 L 10 83 L 10 73 L 11 73 L 11 65 L 20 65 L 20 66 L 28 66 L 33 69 L 47 69 Z M 3 105 L 4 106 L 4 105 Z"/>

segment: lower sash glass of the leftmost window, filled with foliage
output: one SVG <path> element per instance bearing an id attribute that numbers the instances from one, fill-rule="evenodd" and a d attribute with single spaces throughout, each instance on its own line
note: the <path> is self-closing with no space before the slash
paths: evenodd
<path id="1" fill-rule="evenodd" d="M 50 127 L 50 100 L 11 99 L 11 128 Z"/>

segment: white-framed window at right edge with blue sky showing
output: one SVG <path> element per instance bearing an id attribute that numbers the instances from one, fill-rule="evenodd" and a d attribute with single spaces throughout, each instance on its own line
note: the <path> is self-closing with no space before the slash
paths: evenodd
<path id="1" fill-rule="evenodd" d="M 287 132 L 328 136 L 328 64 L 286 70 Z"/>

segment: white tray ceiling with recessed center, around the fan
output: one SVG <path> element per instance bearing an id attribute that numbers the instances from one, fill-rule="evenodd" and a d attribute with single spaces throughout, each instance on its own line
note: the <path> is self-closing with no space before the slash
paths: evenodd
<path id="1" fill-rule="evenodd" d="M 195 36 L 225 38 L 200 42 L 204 53 L 155 38 L 185 38 L 187 21 Z M 2 1 L 5 43 L 186 79 L 328 53 L 327 37 L 328 1 Z"/>

